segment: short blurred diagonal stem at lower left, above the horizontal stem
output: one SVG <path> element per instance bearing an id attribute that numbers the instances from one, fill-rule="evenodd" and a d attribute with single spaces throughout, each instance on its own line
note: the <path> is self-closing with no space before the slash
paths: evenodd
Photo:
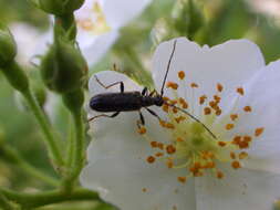
<path id="1" fill-rule="evenodd" d="M 46 182 L 50 186 L 59 186 L 59 181 L 52 177 L 46 176 L 44 172 L 38 170 L 35 167 L 31 166 L 27 162 L 17 151 L 15 149 L 9 147 L 8 145 L 3 145 L 0 148 L 0 157 L 2 156 L 11 164 L 19 166 L 22 170 L 24 170 L 28 175 L 33 176 L 42 181 Z"/>

